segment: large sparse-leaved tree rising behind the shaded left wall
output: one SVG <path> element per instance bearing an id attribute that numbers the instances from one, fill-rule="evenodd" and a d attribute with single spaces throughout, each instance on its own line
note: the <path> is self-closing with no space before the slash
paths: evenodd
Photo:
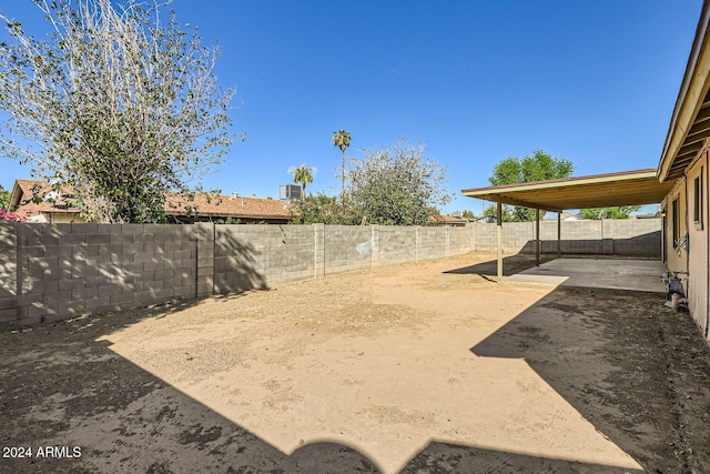
<path id="1" fill-rule="evenodd" d="M 219 51 L 196 28 L 182 30 L 174 11 L 161 20 L 160 2 L 34 1 L 50 26 L 44 40 L 0 17 L 9 33 L 0 110 L 11 118 L 0 152 L 70 184 L 84 216 L 163 221 L 166 192 L 187 192 L 232 143 L 233 91 L 213 74 Z"/>

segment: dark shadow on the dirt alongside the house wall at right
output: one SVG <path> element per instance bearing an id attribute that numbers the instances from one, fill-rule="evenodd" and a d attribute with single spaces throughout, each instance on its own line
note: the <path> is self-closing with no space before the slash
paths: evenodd
<path id="1" fill-rule="evenodd" d="M 710 472 L 710 351 L 660 296 L 555 290 L 471 347 L 523 359 L 648 472 Z"/>

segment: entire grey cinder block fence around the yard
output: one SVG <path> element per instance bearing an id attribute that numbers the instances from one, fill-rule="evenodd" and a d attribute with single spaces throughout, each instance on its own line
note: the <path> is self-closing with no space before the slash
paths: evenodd
<path id="1" fill-rule="evenodd" d="M 562 253 L 660 255 L 658 220 L 562 222 Z M 534 252 L 530 222 L 504 224 L 507 254 Z M 557 252 L 557 222 L 540 225 Z M 0 324 L 26 324 L 267 288 L 471 251 L 495 224 L 27 224 L 0 222 Z"/>

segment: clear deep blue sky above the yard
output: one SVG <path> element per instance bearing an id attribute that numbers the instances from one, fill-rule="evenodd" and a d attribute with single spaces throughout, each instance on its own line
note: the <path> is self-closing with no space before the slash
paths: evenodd
<path id="1" fill-rule="evenodd" d="M 575 175 L 656 168 L 701 0 L 175 0 L 180 22 L 220 43 L 216 74 L 237 89 L 235 143 L 206 188 L 278 196 L 290 167 L 335 194 L 341 152 L 423 142 L 448 169 L 445 211 L 481 201 L 494 165 L 542 149 Z M 0 11 L 39 36 L 30 0 Z M 30 178 L 0 157 L 0 184 Z"/>

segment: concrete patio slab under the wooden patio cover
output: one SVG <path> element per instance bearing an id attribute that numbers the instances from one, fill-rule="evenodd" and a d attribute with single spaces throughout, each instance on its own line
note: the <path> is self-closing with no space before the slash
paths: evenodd
<path id="1" fill-rule="evenodd" d="M 557 259 L 506 278 L 507 282 L 539 283 L 596 290 L 666 293 L 657 260 Z"/>

